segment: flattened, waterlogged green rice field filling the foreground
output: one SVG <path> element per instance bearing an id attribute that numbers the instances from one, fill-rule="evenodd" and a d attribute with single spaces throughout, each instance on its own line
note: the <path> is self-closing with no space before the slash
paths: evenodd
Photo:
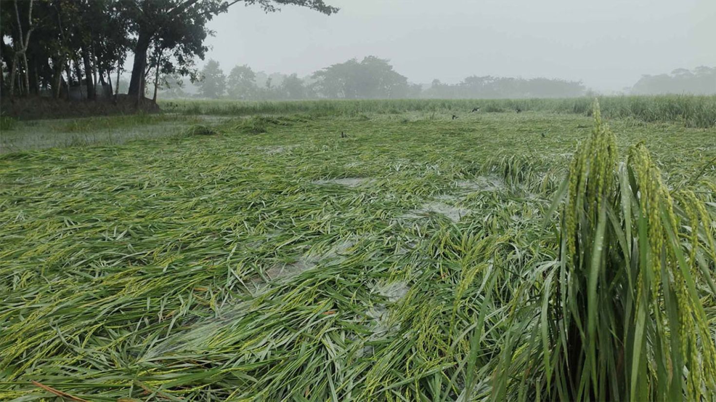
<path id="1" fill-rule="evenodd" d="M 714 125 L 368 102 L 0 155 L 0 399 L 715 400 Z"/>

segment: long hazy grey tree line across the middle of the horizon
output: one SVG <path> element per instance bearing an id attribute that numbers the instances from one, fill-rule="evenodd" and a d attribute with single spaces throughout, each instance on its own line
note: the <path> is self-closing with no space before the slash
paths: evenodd
<path id="1" fill-rule="evenodd" d="M 389 60 L 368 56 L 362 60 L 332 64 L 307 76 L 253 72 L 246 64 L 224 74 L 218 62 L 209 60 L 201 70 L 198 87 L 188 94 L 181 85 L 165 80 L 163 97 L 209 99 L 391 99 L 391 98 L 525 98 L 579 97 L 586 94 L 581 82 L 561 79 L 467 77 L 459 84 L 435 79 L 423 88 L 395 72 Z"/>

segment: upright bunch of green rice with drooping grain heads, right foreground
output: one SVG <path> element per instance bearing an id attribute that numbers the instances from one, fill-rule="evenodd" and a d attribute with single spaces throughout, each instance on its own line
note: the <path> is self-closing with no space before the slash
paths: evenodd
<path id="1" fill-rule="evenodd" d="M 712 215 L 695 192 L 669 192 L 644 144 L 620 164 L 615 143 L 595 102 L 553 204 L 559 259 L 533 277 L 540 301 L 513 318 L 495 400 L 716 398 L 701 302 L 716 293 Z"/>

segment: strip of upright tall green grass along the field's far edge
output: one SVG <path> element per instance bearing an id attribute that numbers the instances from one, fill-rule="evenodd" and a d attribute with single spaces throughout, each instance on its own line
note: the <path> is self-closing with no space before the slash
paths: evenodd
<path id="1" fill-rule="evenodd" d="M 716 96 L 660 95 L 601 97 L 601 113 L 609 118 L 634 118 L 645 122 L 679 122 L 687 127 L 716 125 Z M 554 112 L 591 114 L 590 98 L 566 99 L 362 99 L 244 102 L 231 100 L 171 100 L 161 102 L 165 111 L 181 114 L 307 113 L 349 115 L 405 112 Z"/>

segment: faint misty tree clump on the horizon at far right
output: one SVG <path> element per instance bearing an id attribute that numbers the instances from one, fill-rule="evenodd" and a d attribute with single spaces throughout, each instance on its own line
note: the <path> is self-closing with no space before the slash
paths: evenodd
<path id="1" fill-rule="evenodd" d="M 716 94 L 716 67 L 675 69 L 671 74 L 644 75 L 632 94 Z"/>

